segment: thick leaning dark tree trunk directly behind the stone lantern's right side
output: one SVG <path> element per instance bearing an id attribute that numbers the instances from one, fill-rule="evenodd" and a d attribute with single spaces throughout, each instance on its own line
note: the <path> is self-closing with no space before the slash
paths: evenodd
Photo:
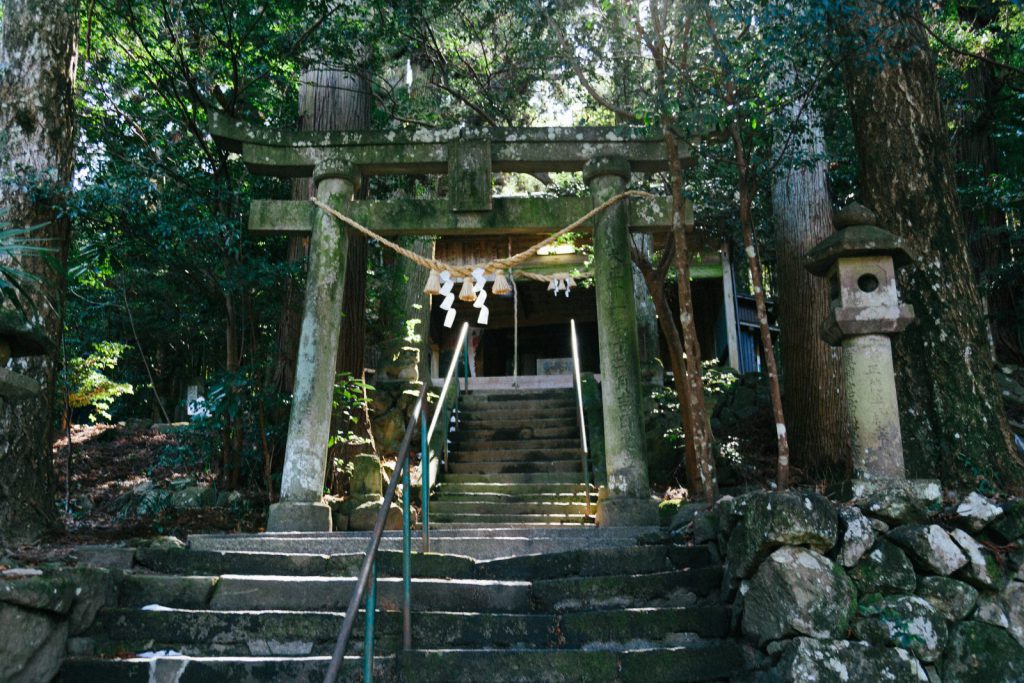
<path id="1" fill-rule="evenodd" d="M 950 485 L 1020 490 L 1024 468 L 994 383 L 921 18 L 915 4 L 897 14 L 869 0 L 834 14 L 861 198 L 916 255 L 899 280 L 918 324 L 894 344 L 907 469 Z"/>

